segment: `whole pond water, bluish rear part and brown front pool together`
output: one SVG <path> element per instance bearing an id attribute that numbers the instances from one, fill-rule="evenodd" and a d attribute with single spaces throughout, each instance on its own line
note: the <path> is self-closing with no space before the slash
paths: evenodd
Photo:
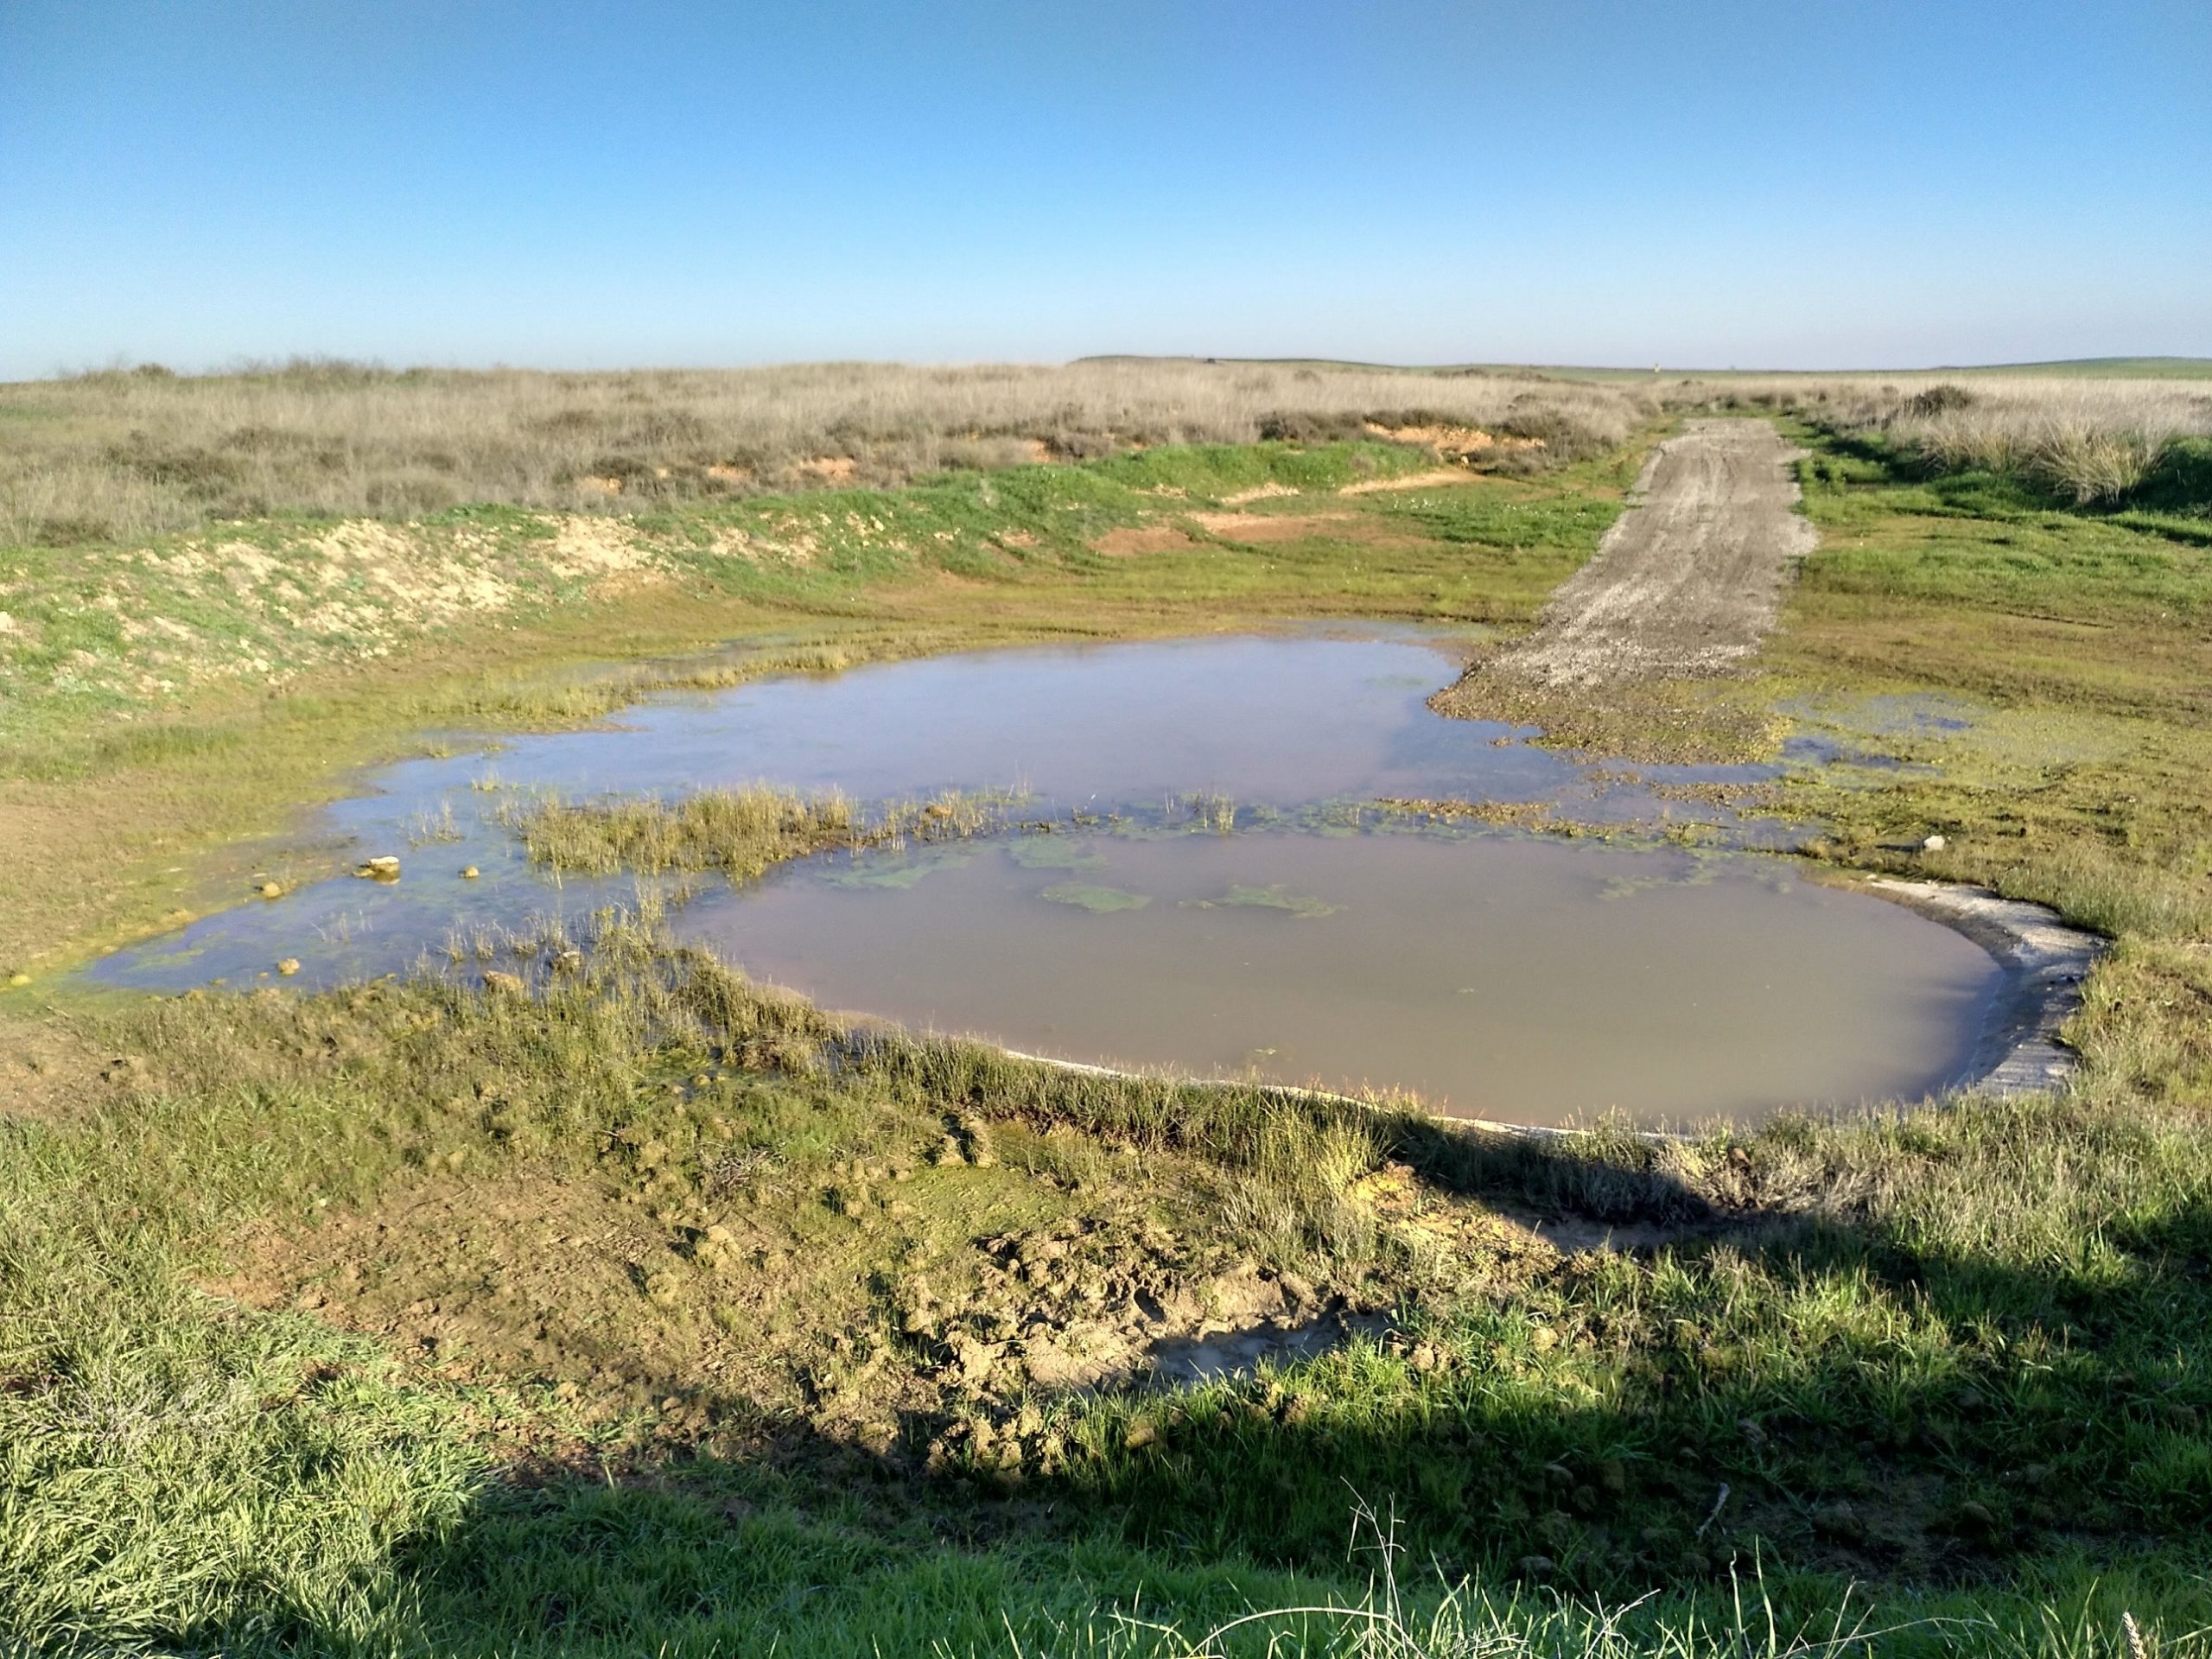
<path id="1" fill-rule="evenodd" d="M 1555 1124 L 1759 1117 L 1960 1077 L 2000 984 L 1960 933 L 1741 852 L 1566 843 L 1378 816 L 1378 796 L 1686 812 L 1528 732 L 1451 721 L 1409 633 L 1002 650 L 670 697 L 617 723 L 409 761 L 330 810 L 321 880 L 88 969 L 115 987 L 292 987 L 429 967 L 498 927 L 580 918 L 630 878 L 533 869 L 511 790 L 838 787 L 869 803 L 1026 790 L 1053 834 L 812 858 L 706 883 L 681 933 L 825 1006 L 1186 1075 L 1409 1091 Z M 1234 803 L 1234 832 L 1217 805 Z M 1082 814 L 1075 823 L 1071 814 Z M 460 880 L 476 865 L 482 880 Z M 509 962 L 495 962 L 509 967 Z"/>

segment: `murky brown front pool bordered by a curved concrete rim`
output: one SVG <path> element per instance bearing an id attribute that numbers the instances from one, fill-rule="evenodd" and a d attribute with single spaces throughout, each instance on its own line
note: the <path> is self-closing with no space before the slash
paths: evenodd
<path id="1" fill-rule="evenodd" d="M 1522 1124 L 1918 1095 L 1995 984 L 1958 933 L 1774 860 L 1387 832 L 1044 849 L 1062 867 L 1035 843 L 792 867 L 681 927 L 834 1009 Z"/>

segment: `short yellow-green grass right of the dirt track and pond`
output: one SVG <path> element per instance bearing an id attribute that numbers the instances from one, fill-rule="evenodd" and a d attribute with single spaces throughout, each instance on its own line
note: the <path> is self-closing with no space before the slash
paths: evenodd
<path id="1" fill-rule="evenodd" d="M 1962 719 L 1882 732 L 1874 748 L 1909 765 L 1878 781 L 1792 776 L 1785 810 L 1820 821 L 1843 863 L 1980 880 L 2110 933 L 2212 938 L 2212 546 L 2139 513 L 2062 511 L 2011 478 L 1916 478 L 1854 440 L 1809 440 L 1820 551 L 1765 695 L 1847 714 L 1933 692 Z M 1940 856 L 1898 856 L 1931 832 Z"/>

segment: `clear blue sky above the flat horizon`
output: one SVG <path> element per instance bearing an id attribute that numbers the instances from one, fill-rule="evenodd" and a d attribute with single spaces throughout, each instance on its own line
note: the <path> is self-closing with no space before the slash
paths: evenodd
<path id="1" fill-rule="evenodd" d="M 2212 354 L 2203 0 L 0 0 L 0 376 Z"/>

